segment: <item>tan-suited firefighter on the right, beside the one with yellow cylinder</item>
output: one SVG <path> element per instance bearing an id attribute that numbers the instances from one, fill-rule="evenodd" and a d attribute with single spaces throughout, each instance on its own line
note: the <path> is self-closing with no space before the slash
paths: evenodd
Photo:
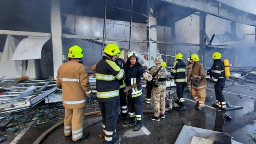
<path id="1" fill-rule="evenodd" d="M 190 75 L 192 84 L 191 94 L 196 101 L 195 107 L 200 111 L 204 108 L 207 81 L 204 66 L 199 62 L 198 55 L 192 54 L 190 56 L 190 61 L 193 64 Z"/>

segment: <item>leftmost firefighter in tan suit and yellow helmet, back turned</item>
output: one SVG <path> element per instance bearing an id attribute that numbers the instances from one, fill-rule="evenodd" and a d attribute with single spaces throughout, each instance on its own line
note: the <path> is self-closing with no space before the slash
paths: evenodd
<path id="1" fill-rule="evenodd" d="M 87 138 L 83 133 L 83 119 L 86 97 L 92 96 L 89 78 L 82 63 L 83 50 L 77 45 L 69 48 L 69 61 L 59 66 L 56 86 L 62 89 L 63 106 L 65 107 L 64 134 L 72 133 L 74 142 Z"/>

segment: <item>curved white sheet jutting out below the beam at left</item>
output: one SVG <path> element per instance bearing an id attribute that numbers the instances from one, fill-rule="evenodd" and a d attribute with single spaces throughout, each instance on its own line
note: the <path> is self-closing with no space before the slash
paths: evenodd
<path id="1" fill-rule="evenodd" d="M 41 59 L 43 45 L 50 37 L 28 37 L 22 39 L 13 54 L 12 60 Z"/>

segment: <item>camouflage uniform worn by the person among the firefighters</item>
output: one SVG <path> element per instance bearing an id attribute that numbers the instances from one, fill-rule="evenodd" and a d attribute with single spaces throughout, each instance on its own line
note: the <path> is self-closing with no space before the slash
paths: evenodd
<path id="1" fill-rule="evenodd" d="M 161 59 L 161 61 L 163 61 L 163 59 Z M 154 66 L 150 70 L 150 74 L 153 76 L 158 71 L 159 68 L 160 68 L 160 66 Z M 152 90 L 152 92 L 153 92 L 152 97 L 153 97 L 154 109 L 155 109 L 155 113 L 154 113 L 155 117 L 158 117 L 158 116 L 160 116 L 160 114 L 165 113 L 166 74 L 167 74 L 166 68 L 161 67 L 161 69 L 158 71 L 158 74 L 156 74 L 156 76 L 153 78 L 153 81 L 158 79 L 158 82 L 157 82 L 158 87 L 153 86 L 153 90 Z"/>

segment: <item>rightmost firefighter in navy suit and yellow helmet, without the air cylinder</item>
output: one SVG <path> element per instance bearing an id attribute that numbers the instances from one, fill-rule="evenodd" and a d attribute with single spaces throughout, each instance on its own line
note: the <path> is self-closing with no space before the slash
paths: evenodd
<path id="1" fill-rule="evenodd" d="M 223 89 L 225 86 L 224 63 L 221 61 L 221 53 L 215 52 L 212 54 L 213 65 L 211 66 L 212 84 L 214 85 L 216 103 L 213 107 L 218 107 L 221 110 L 226 110 L 226 101 L 223 96 Z"/>

